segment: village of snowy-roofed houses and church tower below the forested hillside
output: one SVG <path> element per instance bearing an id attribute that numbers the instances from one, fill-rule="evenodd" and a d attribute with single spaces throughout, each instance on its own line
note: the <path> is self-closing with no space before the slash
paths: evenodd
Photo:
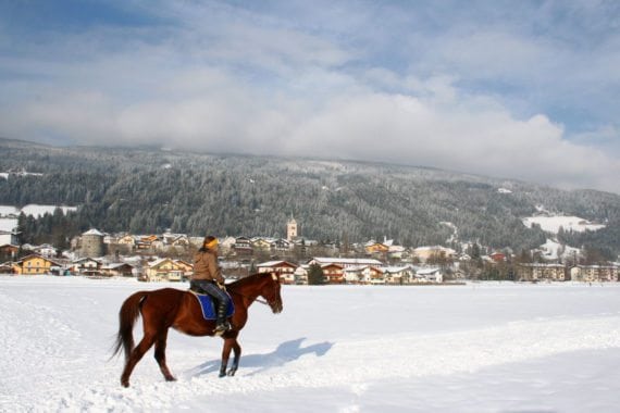
<path id="1" fill-rule="evenodd" d="M 513 262 L 506 252 L 493 251 L 473 265 L 468 253 L 443 246 L 408 249 L 390 240 L 351 246 L 308 240 L 298 235 L 294 218 L 286 223 L 286 238 L 220 238 L 223 273 L 228 279 L 277 273 L 288 285 L 441 285 L 489 279 L 481 276 L 485 267 L 491 274 L 499 270 L 508 274 L 498 279 L 516 281 L 618 281 L 617 263 Z M 0 274 L 141 281 L 186 281 L 193 273 L 193 254 L 202 242 L 202 237 L 184 234 L 112 235 L 94 228 L 75 237 L 70 250 L 58 251 L 50 245 L 18 246 L 11 233 L 0 236 L 0 256 L 7 259 L 0 262 Z"/>

